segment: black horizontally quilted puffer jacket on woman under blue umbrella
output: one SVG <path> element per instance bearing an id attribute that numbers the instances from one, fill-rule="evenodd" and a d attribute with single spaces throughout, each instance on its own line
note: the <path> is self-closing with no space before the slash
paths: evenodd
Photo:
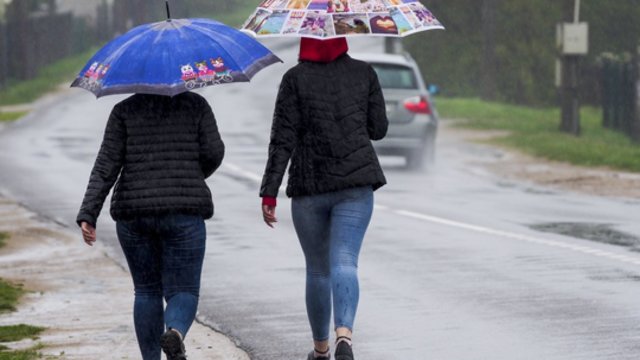
<path id="1" fill-rule="evenodd" d="M 95 226 L 104 200 L 114 220 L 166 214 L 213 216 L 205 179 L 220 166 L 224 144 L 200 95 L 133 95 L 117 104 L 77 217 Z"/>

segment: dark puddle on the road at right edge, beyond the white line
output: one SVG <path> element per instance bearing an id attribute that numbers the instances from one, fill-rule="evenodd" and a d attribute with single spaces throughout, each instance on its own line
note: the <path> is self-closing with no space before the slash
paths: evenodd
<path id="1" fill-rule="evenodd" d="M 618 245 L 640 251 L 640 237 L 618 231 L 611 224 L 594 223 L 542 223 L 530 226 L 531 229 L 546 233 L 571 236 L 578 239 Z"/>

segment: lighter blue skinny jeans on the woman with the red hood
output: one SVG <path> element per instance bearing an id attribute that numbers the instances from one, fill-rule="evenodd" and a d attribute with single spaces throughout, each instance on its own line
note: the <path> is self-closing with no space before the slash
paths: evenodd
<path id="1" fill-rule="evenodd" d="M 307 263 L 307 315 L 313 339 L 353 330 L 358 308 L 358 256 L 373 212 L 373 190 L 361 187 L 292 201 L 293 223 Z"/>

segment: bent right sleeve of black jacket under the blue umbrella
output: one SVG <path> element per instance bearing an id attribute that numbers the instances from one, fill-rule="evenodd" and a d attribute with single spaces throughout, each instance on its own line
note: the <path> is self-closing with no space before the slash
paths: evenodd
<path id="1" fill-rule="evenodd" d="M 213 110 L 205 102 L 203 114 L 198 127 L 200 142 L 200 167 L 205 178 L 211 176 L 222 164 L 224 158 L 224 142 L 218 132 L 218 124 Z"/>

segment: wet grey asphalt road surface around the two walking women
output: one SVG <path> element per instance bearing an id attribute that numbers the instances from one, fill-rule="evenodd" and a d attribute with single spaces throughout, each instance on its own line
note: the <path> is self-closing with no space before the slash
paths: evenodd
<path id="1" fill-rule="evenodd" d="M 281 199 L 271 230 L 257 197 L 275 92 L 295 60 L 287 44 L 267 43 L 286 64 L 251 85 L 202 92 L 227 157 L 210 180 L 216 217 L 207 223 L 199 318 L 263 360 L 303 359 L 311 347 L 289 201 Z M 6 128 L 1 190 L 74 226 L 106 118 L 121 99 L 68 90 Z M 500 151 L 440 135 L 431 171 L 383 159 L 389 185 L 376 194 L 361 255 L 358 358 L 637 359 L 640 202 L 504 181 L 477 165 Z M 107 209 L 99 238 L 123 262 Z"/>

